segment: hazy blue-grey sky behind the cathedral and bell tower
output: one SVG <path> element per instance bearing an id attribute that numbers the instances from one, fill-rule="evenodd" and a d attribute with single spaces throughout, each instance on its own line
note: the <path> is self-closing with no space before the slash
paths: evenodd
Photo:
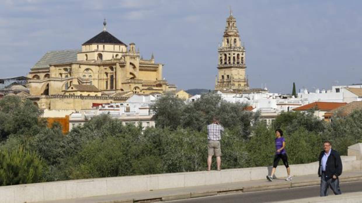
<path id="1" fill-rule="evenodd" d="M 107 31 L 153 53 L 178 89 L 214 89 L 229 9 L 251 88 L 273 93 L 362 83 L 359 0 L 1 0 L 0 78 L 26 76 L 51 50 Z"/>

